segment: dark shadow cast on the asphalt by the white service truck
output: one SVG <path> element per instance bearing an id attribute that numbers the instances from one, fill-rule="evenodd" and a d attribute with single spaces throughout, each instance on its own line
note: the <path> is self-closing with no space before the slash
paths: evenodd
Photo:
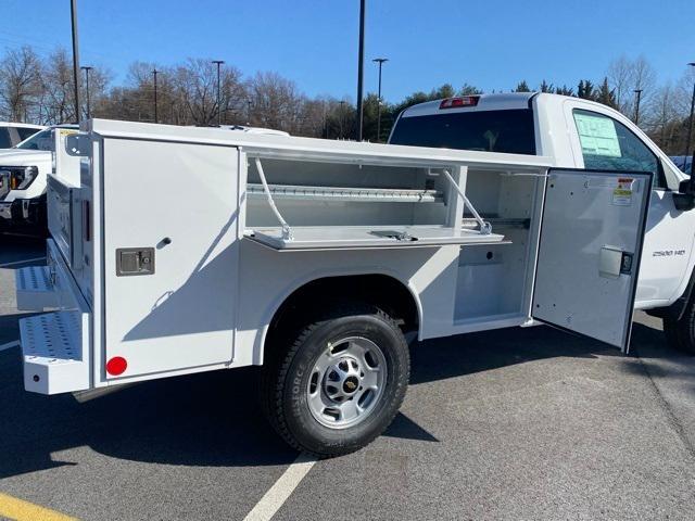
<path id="1" fill-rule="evenodd" d="M 418 344 L 413 383 L 541 358 L 616 355 L 596 342 L 549 328 L 501 330 Z M 182 466 L 290 463 L 288 448 L 262 418 L 257 368 L 143 382 L 79 404 L 72 395 L 26 393 L 20 351 L 0 353 L 0 478 L 64 465 L 58 453 L 89 446 L 118 459 Z M 384 435 L 437 442 L 399 415 Z"/>

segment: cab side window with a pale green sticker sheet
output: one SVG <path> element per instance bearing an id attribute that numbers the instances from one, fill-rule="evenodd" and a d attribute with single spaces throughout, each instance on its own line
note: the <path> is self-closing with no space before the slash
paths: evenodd
<path id="1" fill-rule="evenodd" d="M 621 123 L 596 112 L 572 111 L 584 157 L 584 168 L 650 171 L 655 188 L 666 188 L 658 157 Z"/>

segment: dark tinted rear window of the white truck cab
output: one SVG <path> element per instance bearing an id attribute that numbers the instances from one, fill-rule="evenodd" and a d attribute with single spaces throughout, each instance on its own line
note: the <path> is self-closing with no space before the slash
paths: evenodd
<path id="1" fill-rule="evenodd" d="M 535 155 L 533 111 L 455 112 L 401 117 L 391 144 Z"/>

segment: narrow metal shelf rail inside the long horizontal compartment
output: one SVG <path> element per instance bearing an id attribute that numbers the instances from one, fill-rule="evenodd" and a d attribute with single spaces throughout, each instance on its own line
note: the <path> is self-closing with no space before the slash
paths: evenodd
<path id="1" fill-rule="evenodd" d="M 325 199 L 331 201 L 383 202 L 383 203 L 443 203 L 444 194 L 438 190 L 410 190 L 401 188 L 344 188 L 313 187 L 304 185 L 268 185 L 277 199 Z M 265 196 L 263 185 L 247 185 L 250 196 Z"/>

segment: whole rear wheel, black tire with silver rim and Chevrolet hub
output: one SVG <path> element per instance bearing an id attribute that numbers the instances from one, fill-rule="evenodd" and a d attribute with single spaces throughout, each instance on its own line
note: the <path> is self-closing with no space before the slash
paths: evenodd
<path id="1" fill-rule="evenodd" d="M 391 423 L 405 396 L 409 355 L 382 310 L 342 306 L 305 326 L 289 350 L 277 344 L 264 370 L 264 402 L 291 446 L 338 456 L 364 447 Z"/>

